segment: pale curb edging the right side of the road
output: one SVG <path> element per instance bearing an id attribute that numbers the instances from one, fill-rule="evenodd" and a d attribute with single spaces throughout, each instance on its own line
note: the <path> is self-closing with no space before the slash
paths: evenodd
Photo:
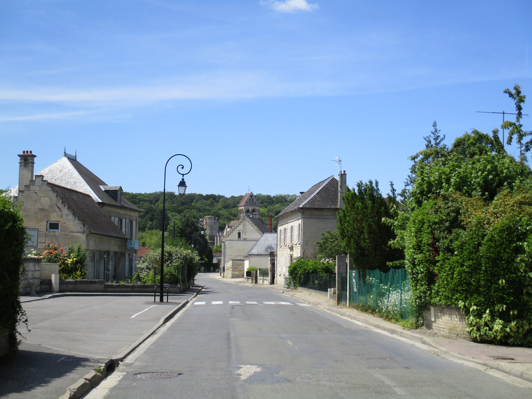
<path id="1" fill-rule="evenodd" d="M 377 320 L 372 320 L 372 319 L 369 319 L 369 318 L 365 318 L 365 317 L 362 317 L 362 316 L 359 316 L 359 315 L 356 315 L 356 314 L 350 314 L 348 312 L 345 312 L 343 310 L 340 310 L 340 309 L 334 309 L 332 307 L 329 307 L 329 306 L 323 306 L 322 304 L 318 303 L 318 302 L 313 302 L 311 299 L 309 298 L 305 298 L 301 295 L 297 295 L 297 294 L 292 294 L 290 295 L 289 292 L 282 292 L 284 295 L 288 295 L 288 296 L 291 296 L 293 298 L 296 298 L 300 301 L 303 301 L 303 302 L 306 302 L 306 303 L 310 303 L 311 305 L 315 306 L 315 307 L 319 307 L 325 311 L 328 311 L 328 312 L 331 312 L 331 313 L 335 313 L 335 314 L 338 314 L 340 316 L 343 316 L 343 317 L 346 317 L 348 319 L 352 319 L 352 320 L 356 320 L 356 321 L 359 321 L 361 323 L 364 323 L 364 324 L 367 324 L 368 326 L 371 326 L 371 327 L 376 327 L 380 330 L 384 330 L 386 332 L 389 332 L 390 334 L 394 334 L 394 335 L 397 335 L 397 336 L 400 336 L 400 337 L 403 337 L 403 338 L 406 338 L 406 339 L 410 339 L 414 342 L 418 342 L 420 344 L 423 344 L 423 345 L 427 345 L 427 346 L 431 346 L 435 349 L 437 349 L 438 351 L 441 351 L 441 352 L 444 352 L 450 356 L 453 356 L 453 358 L 458 358 L 458 359 L 462 359 L 462 360 L 467 360 L 469 362 L 472 362 L 472 363 L 477 363 L 477 364 L 480 364 L 480 365 L 483 365 L 487 368 L 492 368 L 492 369 L 495 369 L 495 370 L 498 370 L 498 371 L 502 371 L 506 374 L 509 374 L 513 377 L 517 377 L 517 378 L 520 378 L 522 380 L 525 380 L 525 381 L 528 381 L 529 383 L 532 383 L 532 372 L 530 371 L 527 371 L 527 370 L 522 370 L 522 369 L 519 369 L 517 367 L 514 367 L 508 363 L 503 363 L 503 362 L 485 362 L 485 361 L 482 361 L 482 360 L 478 360 L 478 359 L 475 359 L 475 358 L 470 358 L 469 356 L 464 356 L 464 355 L 461 355 L 459 353 L 455 353 L 455 352 L 452 352 L 450 350 L 448 350 L 447 348 L 437 344 L 436 342 L 434 342 L 434 340 L 430 339 L 430 338 L 427 338 L 425 336 L 422 336 L 422 335 L 419 335 L 419 334 L 415 334 L 414 332 L 410 332 L 408 330 L 403 330 L 403 329 L 399 329 L 399 328 L 394 328 L 394 327 L 390 327 L 388 325 L 385 325 L 384 323 L 380 323 L 378 322 Z"/>

